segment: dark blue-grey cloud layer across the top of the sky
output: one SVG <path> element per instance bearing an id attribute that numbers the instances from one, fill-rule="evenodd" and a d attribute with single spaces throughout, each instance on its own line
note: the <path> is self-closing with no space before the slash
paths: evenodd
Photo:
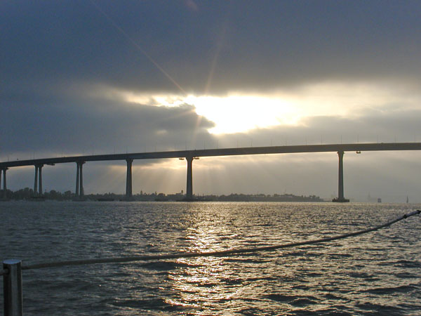
<path id="1" fill-rule="evenodd" d="M 185 1 L 3 4 L 5 86 L 67 79 L 180 92 L 144 52 L 196 93 L 211 73 L 210 88 L 223 93 L 420 72 L 419 1 L 190 2 L 196 9 Z"/>

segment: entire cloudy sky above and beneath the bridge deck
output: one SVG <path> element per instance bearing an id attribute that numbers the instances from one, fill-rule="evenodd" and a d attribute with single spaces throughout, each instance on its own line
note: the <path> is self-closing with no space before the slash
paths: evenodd
<path id="1" fill-rule="evenodd" d="M 420 1 L 0 3 L 0 161 L 214 147 L 421 141 Z M 420 152 L 346 152 L 345 197 L 421 202 Z M 125 162 L 83 167 L 125 191 Z M 32 187 L 34 167 L 8 170 Z M 195 194 L 338 195 L 338 155 L 194 161 Z M 133 193 L 186 162 L 133 162 Z M 76 165 L 45 166 L 73 190 Z"/>

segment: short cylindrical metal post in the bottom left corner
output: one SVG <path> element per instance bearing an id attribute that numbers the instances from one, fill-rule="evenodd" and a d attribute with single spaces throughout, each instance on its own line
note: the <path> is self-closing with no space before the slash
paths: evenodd
<path id="1" fill-rule="evenodd" d="M 3 268 L 8 270 L 3 276 L 4 315 L 22 316 L 22 261 L 5 260 Z"/>

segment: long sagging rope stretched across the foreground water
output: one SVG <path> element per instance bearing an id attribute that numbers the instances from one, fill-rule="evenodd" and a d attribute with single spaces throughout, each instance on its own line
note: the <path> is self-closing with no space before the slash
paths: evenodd
<path id="1" fill-rule="evenodd" d="M 347 237 L 357 236 L 366 234 L 367 232 L 373 232 L 375 230 L 380 230 L 380 228 L 385 228 L 390 226 L 399 220 L 408 218 L 420 214 L 421 210 L 413 211 L 412 213 L 405 214 L 399 218 L 391 220 L 385 224 L 375 226 L 373 228 L 368 228 L 366 230 L 359 230 L 357 232 L 349 232 L 343 235 L 337 235 L 333 237 L 326 237 L 321 239 L 308 240 L 307 242 L 293 242 L 289 244 L 278 244 L 274 246 L 260 246 L 253 248 L 239 248 L 239 249 L 229 249 L 223 251 L 207 251 L 207 252 L 191 252 L 191 253 L 178 253 L 178 254 L 166 254 L 166 255 L 155 255 L 155 256 L 128 256 L 128 257 L 116 257 L 116 258 L 98 258 L 98 259 L 87 259 L 87 260 L 74 260 L 74 261 L 60 261 L 60 262 L 49 262 L 49 263 L 38 263 L 34 265 L 22 265 L 22 270 L 32 270 L 32 269 L 41 269 L 41 268 L 53 268 L 53 267 L 64 267 L 67 265 L 91 265 L 96 263 L 125 263 L 131 261 L 152 261 L 152 260 L 164 260 L 164 259 L 177 259 L 177 258 L 196 258 L 196 257 L 209 257 L 209 256 L 232 256 L 236 254 L 246 254 L 253 253 L 258 251 L 271 251 L 275 249 L 284 249 L 296 246 L 305 246 L 309 244 L 321 244 L 323 242 L 331 242 L 337 239 L 344 239 Z"/>

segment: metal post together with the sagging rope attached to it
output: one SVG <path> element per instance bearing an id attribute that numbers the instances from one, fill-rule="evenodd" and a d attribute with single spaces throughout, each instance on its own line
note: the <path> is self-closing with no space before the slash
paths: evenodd
<path id="1" fill-rule="evenodd" d="M 114 258 L 93 258 L 85 260 L 73 261 L 55 261 L 48 263 L 35 263 L 32 265 L 22 265 L 22 261 L 18 259 L 8 259 L 3 261 L 3 270 L 0 270 L 0 275 L 3 275 L 4 284 L 4 315 L 5 316 L 22 316 L 23 315 L 23 300 L 22 300 L 22 270 L 34 270 L 41 268 L 59 268 L 69 265 L 92 265 L 98 263 L 128 263 L 134 261 L 160 261 L 178 258 L 197 258 L 197 257 L 211 257 L 211 256 L 237 256 L 241 254 L 250 254 L 260 251 L 274 251 L 276 249 L 285 249 L 298 246 L 306 246 L 310 244 L 321 244 L 324 242 L 332 242 L 333 240 L 344 239 L 347 237 L 354 237 L 381 228 L 386 228 L 399 220 L 403 220 L 410 216 L 420 214 L 421 210 L 413 211 L 412 213 L 404 214 L 399 218 L 390 220 L 389 222 L 377 225 L 366 230 L 359 230 L 356 232 L 349 232 L 347 234 L 336 235 L 333 237 L 326 237 L 321 239 L 312 239 L 305 242 L 291 242 L 288 244 L 276 244 L 273 246 L 256 246 L 249 248 L 228 249 L 222 251 L 205 251 L 205 252 L 187 252 L 175 254 L 161 254 L 149 256 L 125 256 Z"/>

